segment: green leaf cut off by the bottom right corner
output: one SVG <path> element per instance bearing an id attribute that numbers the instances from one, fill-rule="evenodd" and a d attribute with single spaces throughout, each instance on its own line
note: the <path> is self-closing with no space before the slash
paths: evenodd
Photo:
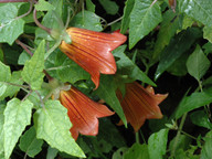
<path id="1" fill-rule="evenodd" d="M 201 151 L 201 159 L 211 159 L 212 158 L 212 131 L 209 131 L 206 136 L 204 137 L 204 146 L 202 147 Z"/>

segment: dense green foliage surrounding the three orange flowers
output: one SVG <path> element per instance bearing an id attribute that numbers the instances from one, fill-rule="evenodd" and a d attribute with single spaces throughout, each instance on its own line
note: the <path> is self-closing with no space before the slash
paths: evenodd
<path id="1" fill-rule="evenodd" d="M 212 158 L 211 0 L 0 2 L 1 159 Z M 116 74 L 100 74 L 98 87 L 59 49 L 70 26 L 128 38 L 113 51 Z M 163 117 L 137 132 L 116 96 L 134 81 L 169 94 Z M 67 110 L 53 93 L 66 84 L 116 113 L 102 115 L 109 117 L 98 119 L 97 136 L 71 136 Z"/>

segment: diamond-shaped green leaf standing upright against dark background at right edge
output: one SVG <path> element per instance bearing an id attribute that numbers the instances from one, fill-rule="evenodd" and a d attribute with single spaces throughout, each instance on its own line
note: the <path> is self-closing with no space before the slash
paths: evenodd
<path id="1" fill-rule="evenodd" d="M 197 81 L 200 81 L 210 67 L 210 61 L 204 55 L 203 51 L 197 45 L 194 52 L 189 56 L 187 61 L 187 68 L 191 76 Z"/>

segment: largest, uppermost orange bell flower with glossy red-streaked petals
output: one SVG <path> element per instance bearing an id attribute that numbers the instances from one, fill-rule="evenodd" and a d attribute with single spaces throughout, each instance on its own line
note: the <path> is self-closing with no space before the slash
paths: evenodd
<path id="1" fill-rule="evenodd" d="M 76 62 L 99 85 L 99 74 L 115 74 L 116 62 L 110 51 L 123 44 L 127 38 L 118 32 L 102 33 L 78 28 L 66 30 L 72 43 L 62 41 L 60 49 L 71 60 Z"/>

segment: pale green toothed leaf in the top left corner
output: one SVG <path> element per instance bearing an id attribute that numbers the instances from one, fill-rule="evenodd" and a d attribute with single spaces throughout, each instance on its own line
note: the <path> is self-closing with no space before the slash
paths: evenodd
<path id="1" fill-rule="evenodd" d="M 0 6 L 0 42 L 11 45 L 23 33 L 24 21 L 17 18 L 19 7 L 13 3 Z"/>

